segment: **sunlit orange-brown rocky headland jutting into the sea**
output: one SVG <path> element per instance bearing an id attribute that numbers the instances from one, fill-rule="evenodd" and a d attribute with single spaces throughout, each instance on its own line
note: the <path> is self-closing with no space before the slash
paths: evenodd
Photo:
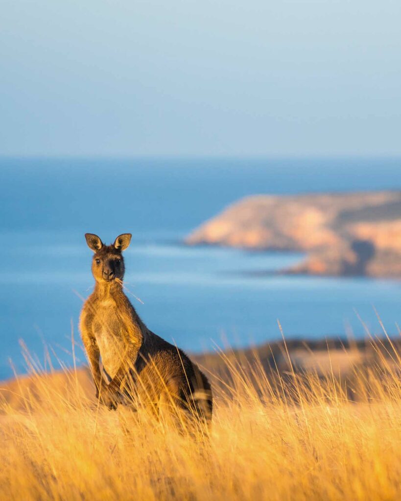
<path id="1" fill-rule="evenodd" d="M 401 277 L 401 191 L 250 196 L 185 242 L 306 253 L 284 273 Z"/>

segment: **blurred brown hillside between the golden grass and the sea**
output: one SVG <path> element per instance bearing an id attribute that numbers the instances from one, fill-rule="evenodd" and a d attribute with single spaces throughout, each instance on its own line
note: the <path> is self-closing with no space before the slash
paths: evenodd
<path id="1" fill-rule="evenodd" d="M 255 363 L 260 365 L 267 378 L 276 373 L 284 376 L 291 370 L 296 374 L 313 373 L 319 376 L 333 372 L 343 382 L 350 381 L 354 377 L 355 367 L 361 370 L 373 366 L 393 366 L 394 350 L 397 354 L 401 352 L 401 338 L 376 339 L 375 342 L 372 342 L 372 338 L 358 341 L 339 338 L 289 339 L 285 344 L 276 341 L 240 350 L 193 354 L 191 359 L 209 376 L 213 375 L 215 388 L 226 388 L 233 366 L 239 365 L 246 370 L 249 366 L 255 366 Z M 27 357 L 30 358 L 28 353 Z M 38 398 L 48 385 L 52 386 L 53 391 L 62 394 L 63 388 L 76 384 L 86 398 L 95 402 L 95 388 L 88 366 L 78 367 L 76 371 L 54 370 L 48 373 L 37 372 L 32 365 L 29 375 L 0 381 L 0 401 L 24 408 L 22 391 Z"/>

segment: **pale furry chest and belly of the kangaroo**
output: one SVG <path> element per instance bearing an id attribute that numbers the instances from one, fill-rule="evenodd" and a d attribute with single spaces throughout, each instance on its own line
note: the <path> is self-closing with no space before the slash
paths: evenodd
<path id="1" fill-rule="evenodd" d="M 125 330 L 114 301 L 106 300 L 100 303 L 93 320 L 93 331 L 103 367 L 111 378 L 116 375 L 126 357 Z"/>

